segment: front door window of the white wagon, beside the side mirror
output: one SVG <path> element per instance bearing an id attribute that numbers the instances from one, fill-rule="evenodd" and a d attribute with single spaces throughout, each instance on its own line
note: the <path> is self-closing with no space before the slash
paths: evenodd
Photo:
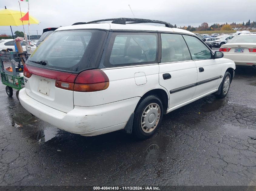
<path id="1" fill-rule="evenodd" d="M 188 45 L 193 60 L 212 58 L 211 51 L 198 38 L 189 35 L 183 35 L 183 37 Z"/>

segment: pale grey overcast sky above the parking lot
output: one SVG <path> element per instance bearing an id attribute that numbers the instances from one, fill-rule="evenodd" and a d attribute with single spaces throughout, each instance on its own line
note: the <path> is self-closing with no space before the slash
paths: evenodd
<path id="1" fill-rule="evenodd" d="M 24 0 L 25 1 L 25 0 Z M 20 2 L 27 12 L 28 3 Z M 30 15 L 40 21 L 30 26 L 30 34 L 42 34 L 47 27 L 68 26 L 104 18 L 129 17 L 167 21 L 180 26 L 198 27 L 203 22 L 246 23 L 256 20 L 256 0 L 29 0 Z M 0 0 L 0 9 L 19 10 L 18 0 Z M 1 19 L 1 18 L 0 18 Z M 23 31 L 23 27 L 12 27 Z M 25 32 L 28 29 L 25 26 Z M 0 34 L 11 34 L 10 27 L 0 26 Z"/>

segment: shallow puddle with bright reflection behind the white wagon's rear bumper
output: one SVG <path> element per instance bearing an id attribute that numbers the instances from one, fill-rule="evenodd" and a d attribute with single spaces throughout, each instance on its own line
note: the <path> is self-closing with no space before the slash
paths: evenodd
<path id="1" fill-rule="evenodd" d="M 57 128 L 42 127 L 38 121 L 41 120 L 28 113 L 14 113 L 12 116 L 12 126 L 39 143 L 47 142 L 58 134 Z"/>

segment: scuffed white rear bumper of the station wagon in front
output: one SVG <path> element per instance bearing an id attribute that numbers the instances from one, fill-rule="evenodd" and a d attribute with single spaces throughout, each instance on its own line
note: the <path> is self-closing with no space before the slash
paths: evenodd
<path id="1" fill-rule="evenodd" d="M 56 110 L 19 91 L 19 100 L 28 112 L 65 131 L 84 136 L 100 135 L 123 129 L 140 97 L 93 107 L 74 106 L 68 113 Z"/>

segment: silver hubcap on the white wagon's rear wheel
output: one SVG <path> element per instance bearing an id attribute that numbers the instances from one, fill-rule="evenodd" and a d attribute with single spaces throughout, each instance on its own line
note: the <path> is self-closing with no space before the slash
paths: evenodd
<path id="1" fill-rule="evenodd" d="M 157 103 L 150 103 L 142 113 L 141 129 L 145 133 L 153 131 L 160 119 L 161 110 Z"/>

